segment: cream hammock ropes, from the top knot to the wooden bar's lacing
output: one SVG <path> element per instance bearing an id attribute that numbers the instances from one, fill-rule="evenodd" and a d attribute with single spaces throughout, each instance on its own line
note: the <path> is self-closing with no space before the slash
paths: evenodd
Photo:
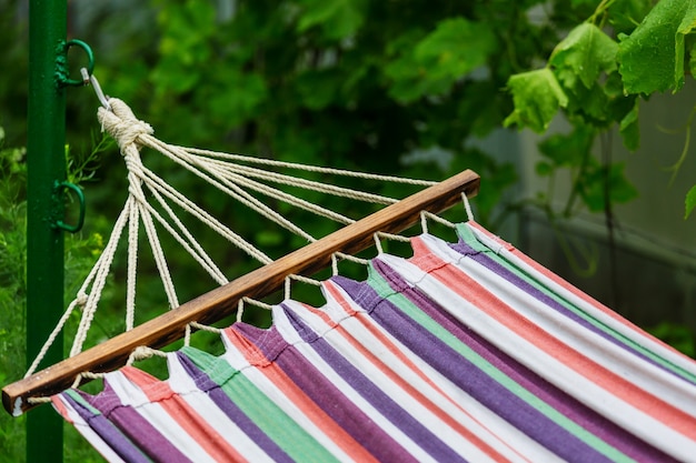
<path id="1" fill-rule="evenodd" d="M 240 154 L 220 153 L 209 150 L 182 148 L 167 144 L 155 138 L 152 135 L 152 128 L 148 123 L 138 120 L 130 110 L 130 108 L 118 99 L 109 99 L 107 108 L 99 109 L 98 118 L 101 122 L 102 130 L 107 131 L 118 142 L 121 150 L 121 154 L 128 169 L 128 199 L 126 200 L 123 210 L 119 214 L 113 225 L 113 230 L 111 231 L 109 241 L 107 242 L 103 252 L 101 253 L 101 255 L 97 260 L 97 263 L 82 283 L 82 286 L 77 293 L 78 295 L 69 304 L 68 309 L 61 316 L 58 325 L 39 352 L 39 355 L 37 355 L 37 359 L 32 362 L 32 365 L 27 372 L 27 376 L 29 376 L 37 370 L 41 360 L 46 356 L 48 349 L 54 342 L 58 333 L 63 329 L 71 313 L 77 308 L 81 308 L 82 315 L 80 318 L 79 326 L 70 350 L 70 356 L 78 354 L 82 350 L 82 345 L 87 339 L 87 333 L 95 318 L 98 302 L 101 299 L 101 293 L 106 285 L 106 280 L 110 272 L 118 243 L 123 234 L 123 231 L 126 230 L 126 227 L 128 227 L 126 294 L 127 331 L 131 330 L 135 326 L 136 278 L 138 271 L 140 224 L 142 224 L 143 227 L 146 238 L 152 251 L 152 255 L 159 272 L 160 280 L 162 281 L 165 293 L 170 308 L 177 308 L 179 305 L 179 302 L 176 294 L 173 281 L 167 264 L 165 252 L 159 241 L 156 224 L 162 227 L 163 230 L 169 233 L 218 284 L 225 284 L 228 282 L 226 275 L 216 265 L 210 255 L 208 255 L 203 246 L 198 243 L 192 233 L 185 225 L 183 221 L 181 221 L 177 213 L 175 213 L 170 203 L 176 204 L 185 213 L 190 214 L 196 220 L 200 221 L 206 227 L 213 230 L 220 236 L 222 236 L 228 242 L 239 248 L 257 261 L 264 264 L 272 262 L 272 260 L 264 252 L 258 250 L 239 234 L 235 233 L 227 225 L 222 224 L 218 219 L 206 212 L 202 208 L 198 207 L 196 203 L 178 192 L 170 184 L 160 179 L 151 170 L 146 168 L 140 158 L 140 150 L 143 147 L 161 153 L 166 158 L 187 169 L 189 172 L 193 173 L 205 182 L 213 185 L 216 189 L 222 191 L 232 199 L 241 202 L 242 204 L 267 218 L 268 220 L 277 223 L 278 225 L 289 230 L 290 232 L 299 236 L 302 236 L 308 241 L 316 241 L 316 239 L 308 232 L 291 223 L 282 214 L 272 210 L 258 198 L 250 194 L 248 191 L 253 191 L 257 194 L 270 198 L 275 201 L 282 201 L 295 208 L 302 209 L 305 211 L 342 224 L 352 223 L 355 222 L 355 220 L 338 212 L 331 211 L 327 208 L 314 204 L 301 198 L 291 195 L 282 190 L 279 190 L 278 188 L 270 187 L 262 182 L 270 182 L 277 185 L 297 188 L 306 191 L 331 194 L 335 197 L 378 204 L 392 204 L 398 200 L 370 192 L 338 187 L 331 183 L 322 183 L 316 180 L 295 178 L 292 175 L 267 171 L 251 165 L 292 169 L 305 172 L 319 173 L 321 175 L 338 175 L 354 179 L 392 182 L 419 187 L 430 187 L 436 183 L 425 180 L 412 180 L 391 175 L 351 172 L 341 169 L 322 168 L 316 165 L 291 163 L 271 159 L 260 159 Z M 151 198 L 155 199 L 155 203 L 158 204 L 159 208 L 161 208 L 160 210 L 163 212 L 163 214 L 158 212 L 158 210 L 156 210 L 152 204 L 150 204 L 150 202 L 148 201 L 148 197 L 145 193 L 146 190 L 151 195 Z M 470 207 L 468 205 L 466 197 L 465 207 L 467 209 L 469 220 L 473 220 Z M 389 235 L 385 233 L 375 234 L 378 250 L 379 252 L 382 252 L 381 244 L 379 243 L 380 236 L 394 239 L 394 236 L 396 235 Z M 408 241 L 408 239 L 406 240 Z M 362 259 L 336 253 L 331 256 L 335 274 L 338 274 L 338 259 L 351 260 L 359 263 L 368 263 L 366 260 Z M 286 288 L 288 295 L 290 291 L 289 282 L 291 279 L 310 284 L 318 283 L 311 279 L 292 275 L 287 280 Z M 239 301 L 239 311 L 237 313 L 238 321 L 241 321 L 241 318 L 243 315 L 245 303 L 261 306 L 264 309 L 271 308 L 264 302 L 243 298 Z M 190 341 L 191 328 L 219 332 L 218 329 L 202 326 L 203 325 L 199 325 L 198 323 L 191 323 L 187 326 L 185 334 L 187 345 Z M 153 351 L 149 348 L 139 348 L 138 350 L 136 350 L 136 352 L 132 353 L 129 362 L 132 363 L 143 355 L 151 356 L 152 354 L 165 355 L 163 353 L 159 351 Z M 79 384 L 79 381 L 80 378 L 76 380 L 76 383 Z"/>

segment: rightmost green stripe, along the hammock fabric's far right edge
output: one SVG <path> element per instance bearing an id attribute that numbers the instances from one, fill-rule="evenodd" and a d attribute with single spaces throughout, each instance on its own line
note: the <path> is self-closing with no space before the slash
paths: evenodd
<path id="1" fill-rule="evenodd" d="M 533 275 L 527 273 L 524 269 L 520 269 L 519 266 L 515 265 L 513 262 L 509 262 L 507 259 L 505 259 L 504 256 L 501 256 L 500 254 L 498 254 L 497 252 L 493 251 L 491 249 L 486 246 L 484 243 L 481 243 L 476 238 L 474 232 L 466 224 L 464 224 L 464 223 L 458 223 L 457 224 L 457 234 L 459 235 L 459 238 L 461 240 L 464 240 L 464 242 L 466 242 L 466 244 L 471 246 L 474 250 L 484 252 L 487 258 L 491 259 L 496 263 L 499 263 L 500 265 L 503 265 L 504 268 L 506 268 L 507 270 L 513 272 L 515 275 L 519 276 L 525 282 L 529 283 L 536 290 L 538 290 L 538 291 L 543 292 L 545 295 L 551 298 L 554 301 L 556 301 L 557 303 L 561 304 L 566 309 L 570 310 L 573 313 L 577 314 L 583 320 L 587 321 L 588 323 L 590 323 L 595 328 L 601 330 L 604 333 L 606 333 L 609 336 L 614 338 L 615 340 L 617 340 L 622 344 L 626 345 L 628 349 L 647 356 L 648 359 L 655 361 L 656 363 L 660 364 L 662 366 L 664 366 L 665 369 L 672 371 L 673 373 L 677 374 L 678 376 L 683 378 L 684 380 L 689 381 L 689 382 L 696 384 L 696 375 L 694 373 L 689 372 L 688 370 L 684 370 L 682 366 L 674 364 L 668 359 L 665 359 L 662 355 L 659 355 L 658 353 L 652 351 L 649 348 L 647 348 L 647 346 L 645 346 L 645 345 L 643 345 L 643 344 L 632 340 L 630 338 L 627 338 L 626 335 L 624 335 L 620 332 L 616 331 L 612 326 L 608 326 L 607 324 L 605 324 L 603 321 L 597 320 L 591 314 L 583 311 L 577 305 L 573 304 L 570 301 L 566 300 L 561 295 L 553 292 L 544 283 L 539 282 Z"/>

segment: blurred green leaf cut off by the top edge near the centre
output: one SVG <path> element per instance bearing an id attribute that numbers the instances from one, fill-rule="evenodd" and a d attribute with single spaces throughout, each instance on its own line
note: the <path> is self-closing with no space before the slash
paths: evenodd
<path id="1" fill-rule="evenodd" d="M 300 4 L 299 32 L 320 27 L 327 39 L 340 40 L 354 36 L 365 20 L 361 0 L 304 0 Z"/>

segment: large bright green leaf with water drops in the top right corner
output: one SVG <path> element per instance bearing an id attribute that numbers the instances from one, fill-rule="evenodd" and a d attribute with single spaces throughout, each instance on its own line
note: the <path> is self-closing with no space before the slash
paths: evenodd
<path id="1" fill-rule="evenodd" d="M 618 46 L 627 93 L 653 93 L 684 85 L 684 36 L 694 29 L 693 1 L 662 0 Z"/>

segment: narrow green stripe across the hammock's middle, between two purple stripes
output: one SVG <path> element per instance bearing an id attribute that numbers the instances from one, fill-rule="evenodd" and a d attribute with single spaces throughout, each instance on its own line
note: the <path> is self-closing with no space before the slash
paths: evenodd
<path id="1" fill-rule="evenodd" d="M 595 449 L 599 453 L 605 454 L 612 460 L 633 461 L 622 451 L 615 449 L 597 435 L 575 423 L 573 420 L 554 409 L 551 405 L 544 402 L 531 392 L 527 391 L 524 386 L 521 386 L 510 376 L 505 374 L 503 371 L 498 370 L 494 364 L 480 356 L 476 351 L 458 340 L 443 325 L 432 320 L 426 312 L 420 310 L 408 298 L 406 298 L 401 293 L 395 292 L 391 286 L 389 286 L 389 283 L 371 265 L 369 266 L 367 283 L 372 286 L 372 289 L 379 294 L 381 299 L 388 300 L 389 302 L 395 304 L 416 323 L 428 330 L 443 343 L 447 344 L 454 351 L 459 353 L 463 358 L 471 362 L 479 370 L 490 376 L 494 381 L 501 384 L 505 389 L 517 395 L 520 400 L 528 403 L 539 413 L 547 416 L 559 427 L 565 429 L 566 431 L 578 437 L 580 441 L 585 442 L 588 446 Z"/>

